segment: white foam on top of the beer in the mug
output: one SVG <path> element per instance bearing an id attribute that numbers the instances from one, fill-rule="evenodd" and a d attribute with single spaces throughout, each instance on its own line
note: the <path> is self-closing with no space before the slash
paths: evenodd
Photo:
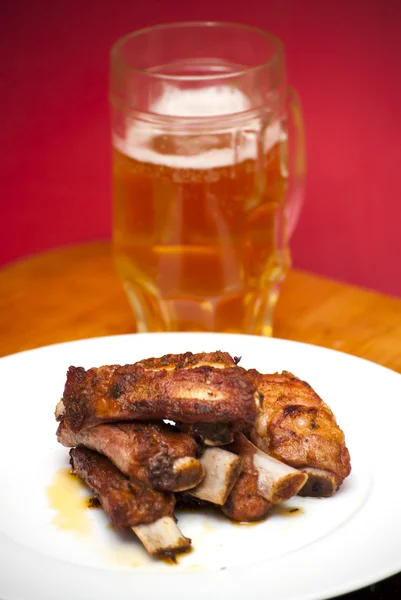
<path id="1" fill-rule="evenodd" d="M 172 85 L 166 85 L 150 110 L 154 114 L 171 117 L 216 117 L 245 112 L 250 108 L 249 98 L 232 86 L 179 90 Z M 124 140 L 115 136 L 113 143 L 120 152 L 140 162 L 175 169 L 213 169 L 255 159 L 258 151 L 257 137 L 261 127 L 261 119 L 254 118 L 251 121 L 247 120 L 243 127 L 223 129 L 222 124 L 220 131 L 205 131 L 204 134 L 197 135 L 192 133 L 189 136 L 188 133 L 161 130 L 143 121 L 136 121 L 128 128 Z M 230 134 L 228 139 L 227 134 Z M 235 143 L 232 134 L 237 136 Z M 158 152 L 155 149 L 154 142 L 161 136 L 170 137 L 171 153 Z M 280 123 L 271 123 L 263 135 L 264 152 L 282 140 L 283 136 L 286 139 Z M 226 142 L 225 146 L 223 140 Z"/>

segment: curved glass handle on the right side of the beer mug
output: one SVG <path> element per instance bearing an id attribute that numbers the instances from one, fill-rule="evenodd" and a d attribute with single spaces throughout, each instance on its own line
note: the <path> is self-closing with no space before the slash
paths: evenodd
<path id="1" fill-rule="evenodd" d="M 288 188 L 286 221 L 288 238 L 294 232 L 303 204 L 305 191 L 305 130 L 299 96 L 293 87 L 287 88 L 288 114 Z"/>

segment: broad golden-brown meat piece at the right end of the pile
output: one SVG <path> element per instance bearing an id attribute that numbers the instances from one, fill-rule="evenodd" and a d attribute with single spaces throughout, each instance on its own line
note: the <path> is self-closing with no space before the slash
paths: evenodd
<path id="1" fill-rule="evenodd" d="M 351 472 L 344 433 L 311 386 L 291 373 L 248 371 L 263 395 L 251 433 L 264 452 L 308 474 L 301 495 L 331 496 Z"/>

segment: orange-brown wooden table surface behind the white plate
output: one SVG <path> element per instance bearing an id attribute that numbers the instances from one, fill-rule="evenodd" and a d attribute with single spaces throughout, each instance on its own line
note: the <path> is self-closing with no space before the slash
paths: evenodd
<path id="1" fill-rule="evenodd" d="M 0 270 L 0 356 L 129 332 L 135 332 L 135 322 L 107 243 L 55 250 Z M 292 271 L 280 295 L 274 333 L 401 373 L 401 300 Z M 351 597 L 400 598 L 401 575 Z"/>

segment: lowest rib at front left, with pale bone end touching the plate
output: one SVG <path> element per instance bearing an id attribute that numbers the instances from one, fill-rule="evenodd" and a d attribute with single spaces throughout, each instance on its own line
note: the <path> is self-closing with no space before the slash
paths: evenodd
<path id="1" fill-rule="evenodd" d="M 70 450 L 71 467 L 94 492 L 116 529 L 131 527 L 152 556 L 174 556 L 190 548 L 178 529 L 173 494 L 127 479 L 108 458 L 79 447 Z"/>

